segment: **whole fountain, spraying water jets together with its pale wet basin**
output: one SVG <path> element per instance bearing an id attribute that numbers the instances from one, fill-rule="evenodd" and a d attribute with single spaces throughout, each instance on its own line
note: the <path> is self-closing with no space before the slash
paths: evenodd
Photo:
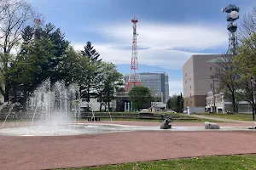
<path id="1" fill-rule="evenodd" d="M 128 126 L 104 123 L 81 123 L 79 87 L 76 84 L 65 86 L 65 82 L 55 82 L 51 85 L 49 80 L 43 82 L 29 99 L 27 108 L 30 110 L 31 122 L 26 126 L 5 127 L 5 122 L 13 111 L 9 110 L 0 135 L 18 136 L 53 136 L 53 135 L 79 135 L 90 133 L 113 133 L 127 131 L 205 131 L 201 127 L 172 127 L 167 118 L 162 126 Z M 111 118 L 111 114 L 108 110 Z M 94 116 L 94 111 L 92 111 Z M 78 120 L 78 122 L 77 122 Z M 20 123 L 21 124 L 21 123 Z M 221 127 L 220 131 L 247 130 L 244 127 Z M 256 130 L 256 129 L 255 129 Z"/>

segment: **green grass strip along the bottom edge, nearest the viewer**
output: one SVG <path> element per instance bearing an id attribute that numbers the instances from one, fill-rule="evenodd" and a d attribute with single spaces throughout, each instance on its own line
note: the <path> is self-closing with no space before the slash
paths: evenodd
<path id="1" fill-rule="evenodd" d="M 69 168 L 69 170 L 238 170 L 256 169 L 256 155 L 206 156 L 189 159 L 144 161 L 102 167 Z"/>

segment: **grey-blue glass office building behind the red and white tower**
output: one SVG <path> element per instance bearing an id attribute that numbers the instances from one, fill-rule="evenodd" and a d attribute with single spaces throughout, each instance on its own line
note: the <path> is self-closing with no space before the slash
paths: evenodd
<path id="1" fill-rule="evenodd" d="M 144 87 L 148 87 L 154 96 L 160 97 L 163 103 L 169 99 L 169 77 L 166 72 L 140 73 Z M 125 74 L 125 85 L 129 80 L 129 74 Z"/>

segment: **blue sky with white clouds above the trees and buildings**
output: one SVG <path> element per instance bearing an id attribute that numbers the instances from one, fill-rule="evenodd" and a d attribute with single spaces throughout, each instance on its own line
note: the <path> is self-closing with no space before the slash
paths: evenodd
<path id="1" fill-rule="evenodd" d="M 92 42 L 102 59 L 122 73 L 130 72 L 131 18 L 136 16 L 139 71 L 166 71 L 170 95 L 183 92 L 182 66 L 192 54 L 227 49 L 226 14 L 220 9 L 235 3 L 242 18 L 256 5 L 255 0 L 30 1 L 45 23 L 61 27 L 74 48 Z"/>

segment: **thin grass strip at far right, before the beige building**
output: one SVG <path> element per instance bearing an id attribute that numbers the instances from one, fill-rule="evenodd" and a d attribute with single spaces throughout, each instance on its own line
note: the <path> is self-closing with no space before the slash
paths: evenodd
<path id="1" fill-rule="evenodd" d="M 238 121 L 253 121 L 252 114 L 242 114 L 242 113 L 234 113 L 234 114 L 226 114 L 226 113 L 198 113 L 197 115 L 203 116 L 212 116 L 212 117 L 219 117 L 225 119 L 233 119 Z"/>

